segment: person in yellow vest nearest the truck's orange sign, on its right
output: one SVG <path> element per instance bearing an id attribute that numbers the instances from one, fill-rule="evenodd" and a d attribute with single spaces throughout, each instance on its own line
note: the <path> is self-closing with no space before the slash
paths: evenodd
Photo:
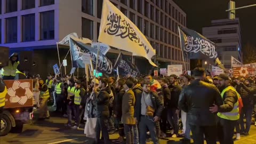
<path id="1" fill-rule="evenodd" d="M 50 93 L 43 79 L 39 79 L 39 90 L 40 90 L 40 107 L 39 107 L 39 119 L 50 118 L 47 102 L 50 98 Z"/>

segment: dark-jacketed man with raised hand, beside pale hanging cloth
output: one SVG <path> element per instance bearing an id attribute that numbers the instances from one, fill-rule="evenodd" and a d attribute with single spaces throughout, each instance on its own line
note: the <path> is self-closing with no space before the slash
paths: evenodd
<path id="1" fill-rule="evenodd" d="M 100 139 L 100 132 L 102 132 L 102 136 L 104 138 L 105 144 L 110 143 L 109 135 L 108 135 L 108 117 L 109 117 L 109 93 L 110 87 L 108 86 L 108 79 L 100 78 L 100 92 L 97 92 L 95 88 L 93 88 L 93 92 L 96 95 L 95 103 L 96 103 L 96 117 L 97 123 L 95 127 L 96 138 L 95 141 L 98 143 Z"/>

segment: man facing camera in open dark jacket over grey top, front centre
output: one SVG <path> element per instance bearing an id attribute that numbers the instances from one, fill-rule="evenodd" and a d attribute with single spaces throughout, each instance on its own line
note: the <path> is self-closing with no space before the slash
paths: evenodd
<path id="1" fill-rule="evenodd" d="M 163 102 L 158 98 L 158 95 L 154 92 L 150 92 L 150 83 L 143 83 L 143 92 L 135 104 L 135 118 L 139 122 L 140 130 L 140 143 L 146 144 L 147 129 L 150 132 L 151 139 L 154 144 L 158 144 L 158 138 L 156 135 L 156 122 L 159 121 L 163 111 Z M 147 113 L 147 107 L 153 108 L 153 116 L 149 116 Z"/>

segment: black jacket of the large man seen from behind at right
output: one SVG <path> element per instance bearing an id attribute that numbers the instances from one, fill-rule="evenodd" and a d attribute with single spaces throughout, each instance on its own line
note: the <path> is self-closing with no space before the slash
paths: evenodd
<path id="1" fill-rule="evenodd" d="M 221 106 L 223 100 L 217 87 L 196 79 L 186 86 L 179 98 L 179 108 L 187 113 L 187 121 L 191 125 L 215 125 L 217 115 L 211 113 L 213 104 Z"/>

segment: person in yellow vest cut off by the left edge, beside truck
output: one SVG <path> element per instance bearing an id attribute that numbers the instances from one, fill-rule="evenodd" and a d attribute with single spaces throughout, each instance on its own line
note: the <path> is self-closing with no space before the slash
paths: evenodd
<path id="1" fill-rule="evenodd" d="M 0 127 L 1 127 L 1 119 L 4 111 L 4 105 L 5 105 L 5 95 L 7 94 L 7 88 L 0 79 Z"/>

